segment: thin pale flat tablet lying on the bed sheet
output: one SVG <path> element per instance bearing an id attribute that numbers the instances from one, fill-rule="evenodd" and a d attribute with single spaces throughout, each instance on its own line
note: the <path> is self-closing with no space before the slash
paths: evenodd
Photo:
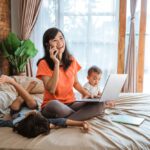
<path id="1" fill-rule="evenodd" d="M 144 118 L 134 117 L 130 115 L 114 115 L 111 116 L 110 119 L 114 122 L 131 124 L 135 126 L 139 126 L 144 121 Z"/>

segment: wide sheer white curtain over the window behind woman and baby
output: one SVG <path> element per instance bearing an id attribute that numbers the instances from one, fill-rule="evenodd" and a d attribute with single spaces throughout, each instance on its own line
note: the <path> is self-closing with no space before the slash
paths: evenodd
<path id="1" fill-rule="evenodd" d="M 44 0 L 32 32 L 39 49 L 33 61 L 43 55 L 44 31 L 56 26 L 66 37 L 71 54 L 82 66 L 79 80 L 86 82 L 87 70 L 97 65 L 103 70 L 101 87 L 110 73 L 117 72 L 119 0 Z"/>

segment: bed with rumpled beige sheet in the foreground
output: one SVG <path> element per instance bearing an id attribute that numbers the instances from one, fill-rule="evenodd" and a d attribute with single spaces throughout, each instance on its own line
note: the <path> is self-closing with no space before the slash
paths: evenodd
<path id="1" fill-rule="evenodd" d="M 112 122 L 110 115 L 129 114 L 145 118 L 140 126 Z M 150 95 L 120 94 L 117 105 L 103 116 L 88 120 L 92 129 L 82 133 L 78 127 L 53 129 L 51 133 L 27 139 L 0 128 L 0 149 L 27 150 L 148 150 L 150 149 Z"/>

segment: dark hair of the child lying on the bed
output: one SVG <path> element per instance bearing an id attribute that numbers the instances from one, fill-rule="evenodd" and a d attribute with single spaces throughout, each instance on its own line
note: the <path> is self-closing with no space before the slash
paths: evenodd
<path id="1" fill-rule="evenodd" d="M 26 118 L 17 123 L 13 131 L 22 136 L 33 138 L 40 134 L 48 134 L 50 132 L 49 122 L 39 113 L 31 113 Z"/>

